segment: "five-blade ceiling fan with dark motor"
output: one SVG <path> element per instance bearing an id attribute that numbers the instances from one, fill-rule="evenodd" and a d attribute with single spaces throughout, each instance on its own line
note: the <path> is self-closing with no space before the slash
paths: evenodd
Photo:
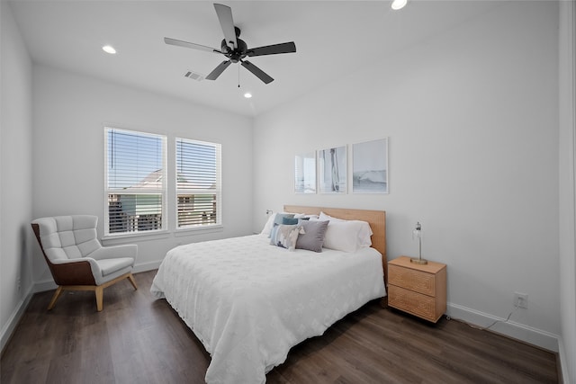
<path id="1" fill-rule="evenodd" d="M 296 44 L 291 41 L 281 44 L 266 45 L 264 47 L 258 48 L 247 48 L 246 42 L 244 42 L 244 40 L 238 39 L 240 36 L 240 29 L 234 25 L 234 20 L 232 19 L 232 9 L 229 6 L 222 4 L 214 4 L 214 9 L 218 15 L 218 20 L 220 21 L 220 27 L 224 32 L 224 39 L 220 44 L 220 49 L 170 38 L 164 38 L 164 42 L 166 42 L 166 44 L 184 48 L 200 49 L 206 50 L 208 52 L 220 53 L 228 58 L 228 60 L 222 61 L 218 67 L 215 67 L 214 70 L 212 70 L 211 73 L 205 77 L 207 80 L 216 80 L 218 76 L 224 72 L 224 69 L 229 67 L 231 63 L 240 63 L 242 67 L 245 67 L 248 71 L 252 72 L 252 74 L 257 76 L 264 83 L 268 84 L 274 81 L 274 78 L 268 76 L 266 72 L 250 63 L 245 58 L 295 52 Z"/>

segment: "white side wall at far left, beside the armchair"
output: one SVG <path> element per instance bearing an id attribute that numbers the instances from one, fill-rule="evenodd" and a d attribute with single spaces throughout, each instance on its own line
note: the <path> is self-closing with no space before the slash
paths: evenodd
<path id="1" fill-rule="evenodd" d="M 0 2 L 0 349 L 31 291 L 31 58 Z M 20 288 L 19 288 L 20 285 Z"/>

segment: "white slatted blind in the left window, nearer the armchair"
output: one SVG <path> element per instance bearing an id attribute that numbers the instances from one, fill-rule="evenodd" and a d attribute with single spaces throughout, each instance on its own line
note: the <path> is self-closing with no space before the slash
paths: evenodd
<path id="1" fill-rule="evenodd" d="M 105 235 L 165 228 L 166 136 L 105 128 Z"/>

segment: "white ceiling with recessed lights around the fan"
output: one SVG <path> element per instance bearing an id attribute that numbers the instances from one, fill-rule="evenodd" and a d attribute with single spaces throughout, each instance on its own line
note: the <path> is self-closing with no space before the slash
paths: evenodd
<path id="1" fill-rule="evenodd" d="M 221 1 L 232 8 L 248 48 L 296 43 L 296 53 L 250 58 L 275 78 L 265 85 L 238 64 L 215 81 L 184 77 L 188 70 L 208 75 L 225 58 L 166 45 L 164 37 L 220 49 L 223 34 L 212 3 L 10 1 L 34 62 L 247 116 L 266 112 L 338 77 L 354 76 L 367 65 L 393 58 L 399 49 L 497 5 L 496 1 L 419 0 L 392 11 L 390 0 Z M 105 44 L 118 53 L 104 53 Z M 242 96 L 247 91 L 254 94 L 252 99 Z"/>

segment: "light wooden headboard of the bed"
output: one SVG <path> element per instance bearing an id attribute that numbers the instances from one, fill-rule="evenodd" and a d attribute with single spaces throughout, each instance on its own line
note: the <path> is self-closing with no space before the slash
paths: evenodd
<path id="1" fill-rule="evenodd" d="M 329 216 L 346 220 L 362 220 L 370 224 L 374 232 L 372 247 L 382 254 L 384 281 L 388 280 L 388 261 L 386 259 L 386 211 L 384 210 L 351 210 L 347 208 L 306 207 L 302 205 L 284 205 L 284 212 L 320 215 L 320 211 Z"/>

